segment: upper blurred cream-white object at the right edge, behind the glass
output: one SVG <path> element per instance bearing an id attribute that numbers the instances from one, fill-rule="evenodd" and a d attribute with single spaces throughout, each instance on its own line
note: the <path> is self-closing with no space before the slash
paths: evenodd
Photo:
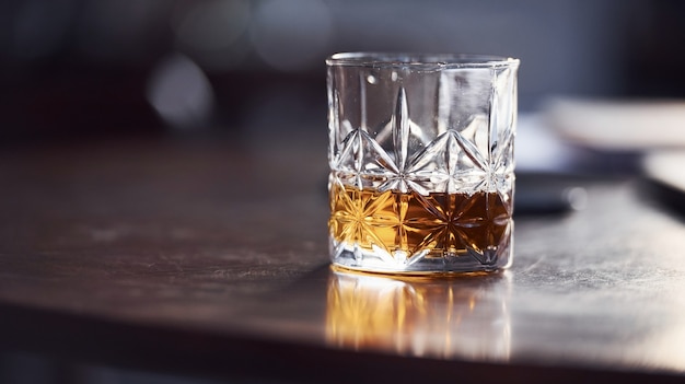
<path id="1" fill-rule="evenodd" d="M 555 100 L 545 120 L 559 136 L 609 151 L 685 148 L 685 101 Z"/>

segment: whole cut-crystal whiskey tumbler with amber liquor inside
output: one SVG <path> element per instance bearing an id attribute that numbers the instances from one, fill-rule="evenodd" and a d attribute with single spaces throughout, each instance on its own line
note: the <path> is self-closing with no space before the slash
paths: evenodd
<path id="1" fill-rule="evenodd" d="M 518 60 L 378 59 L 328 60 L 333 261 L 385 272 L 507 267 Z"/>

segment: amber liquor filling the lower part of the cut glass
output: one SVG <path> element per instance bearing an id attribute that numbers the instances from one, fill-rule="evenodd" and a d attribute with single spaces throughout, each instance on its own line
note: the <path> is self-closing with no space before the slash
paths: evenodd
<path id="1" fill-rule="evenodd" d="M 511 198 L 498 193 L 422 196 L 333 184 L 330 236 L 391 255 L 460 256 L 496 252 L 509 234 Z"/>

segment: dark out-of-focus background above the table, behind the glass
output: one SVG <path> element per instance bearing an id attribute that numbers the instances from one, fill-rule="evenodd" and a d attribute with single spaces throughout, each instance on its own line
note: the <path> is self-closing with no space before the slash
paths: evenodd
<path id="1" fill-rule="evenodd" d="M 676 0 L 5 0 L 0 146 L 112 137 L 325 138 L 345 50 L 522 60 L 520 109 L 685 97 Z"/>

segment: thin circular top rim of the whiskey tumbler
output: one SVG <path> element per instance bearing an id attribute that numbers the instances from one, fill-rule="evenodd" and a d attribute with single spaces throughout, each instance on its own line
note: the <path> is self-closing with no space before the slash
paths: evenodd
<path id="1" fill-rule="evenodd" d="M 374 68 L 498 68 L 518 67 L 519 59 L 479 54 L 429 54 L 429 53 L 336 53 L 326 58 L 329 67 Z"/>

